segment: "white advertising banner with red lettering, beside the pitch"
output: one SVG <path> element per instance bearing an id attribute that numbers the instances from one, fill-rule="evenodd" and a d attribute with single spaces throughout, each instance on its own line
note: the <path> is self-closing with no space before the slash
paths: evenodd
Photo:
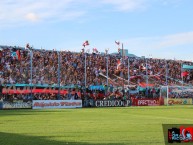
<path id="1" fill-rule="evenodd" d="M 33 109 L 82 108 L 82 100 L 33 100 Z"/>

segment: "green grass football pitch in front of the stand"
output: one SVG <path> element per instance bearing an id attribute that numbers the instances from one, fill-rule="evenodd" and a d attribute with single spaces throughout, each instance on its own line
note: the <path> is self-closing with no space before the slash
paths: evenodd
<path id="1" fill-rule="evenodd" d="M 162 124 L 192 124 L 193 106 L 1 110 L 0 145 L 163 145 Z"/>

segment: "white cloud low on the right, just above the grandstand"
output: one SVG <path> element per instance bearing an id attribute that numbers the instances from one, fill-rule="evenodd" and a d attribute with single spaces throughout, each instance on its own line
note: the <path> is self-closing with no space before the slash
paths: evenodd
<path id="1" fill-rule="evenodd" d="M 129 52 L 138 56 L 192 60 L 193 32 L 122 40 Z"/>

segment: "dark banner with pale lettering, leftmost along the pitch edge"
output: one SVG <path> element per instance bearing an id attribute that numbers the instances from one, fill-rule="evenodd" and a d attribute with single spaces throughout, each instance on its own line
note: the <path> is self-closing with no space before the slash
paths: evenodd
<path id="1" fill-rule="evenodd" d="M 2 109 L 30 109 L 32 107 L 32 102 L 23 102 L 23 101 L 3 101 Z"/>

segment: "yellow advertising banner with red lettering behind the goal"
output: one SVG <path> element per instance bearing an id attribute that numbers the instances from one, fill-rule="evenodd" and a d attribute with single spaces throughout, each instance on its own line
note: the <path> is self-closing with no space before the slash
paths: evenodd
<path id="1" fill-rule="evenodd" d="M 164 104 L 167 105 L 167 98 L 164 99 Z M 191 98 L 168 98 L 169 105 L 190 105 L 192 104 Z"/>

